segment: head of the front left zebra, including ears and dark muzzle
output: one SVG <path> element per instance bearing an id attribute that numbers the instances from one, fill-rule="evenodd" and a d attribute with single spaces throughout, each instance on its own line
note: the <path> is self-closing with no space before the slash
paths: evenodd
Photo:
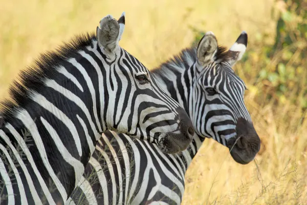
<path id="1" fill-rule="evenodd" d="M 185 150 L 194 135 L 190 118 L 156 83 L 148 69 L 118 43 L 125 16 L 107 15 L 97 27 L 97 50 L 105 56 L 108 97 L 105 125 L 130 136 L 155 142 L 165 153 Z M 115 102 L 115 105 L 114 105 Z"/>

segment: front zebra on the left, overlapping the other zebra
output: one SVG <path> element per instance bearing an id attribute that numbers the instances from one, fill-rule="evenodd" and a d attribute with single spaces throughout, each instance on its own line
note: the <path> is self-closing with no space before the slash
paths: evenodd
<path id="1" fill-rule="evenodd" d="M 2 102 L 1 204 L 63 204 L 106 130 L 183 151 L 194 135 L 185 110 L 119 46 L 124 13 L 36 60 Z"/>

